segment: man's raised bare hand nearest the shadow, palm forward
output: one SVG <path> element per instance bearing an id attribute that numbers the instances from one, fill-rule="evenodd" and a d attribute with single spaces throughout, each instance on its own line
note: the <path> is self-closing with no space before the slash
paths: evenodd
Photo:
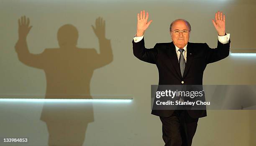
<path id="1" fill-rule="evenodd" d="M 145 10 L 141 11 L 141 14 L 137 14 L 137 20 L 136 37 L 141 37 L 153 20 L 148 21 L 148 12 L 145 14 Z"/>

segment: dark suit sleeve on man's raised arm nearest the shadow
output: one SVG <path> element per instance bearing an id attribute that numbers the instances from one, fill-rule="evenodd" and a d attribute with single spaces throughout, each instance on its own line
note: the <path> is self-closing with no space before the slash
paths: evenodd
<path id="1" fill-rule="evenodd" d="M 156 64 L 157 55 L 158 55 L 158 49 L 157 49 L 158 44 L 156 44 L 155 47 L 152 49 L 147 49 L 145 48 L 145 43 L 143 38 L 139 42 L 134 42 L 133 40 L 132 45 L 133 45 L 133 54 L 135 57 L 137 57 L 138 59 L 144 62 Z"/>

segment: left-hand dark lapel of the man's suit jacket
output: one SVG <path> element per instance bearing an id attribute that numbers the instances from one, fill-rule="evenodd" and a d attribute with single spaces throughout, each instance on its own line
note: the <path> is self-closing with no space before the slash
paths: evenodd
<path id="1" fill-rule="evenodd" d="M 168 51 L 168 55 L 171 59 L 171 63 L 173 65 L 176 73 L 178 74 L 178 76 L 180 78 L 182 78 L 180 68 L 179 68 L 179 61 L 178 61 L 176 49 L 175 49 L 175 46 L 174 46 L 173 42 L 171 42 L 170 45 L 167 46 L 167 51 Z"/>

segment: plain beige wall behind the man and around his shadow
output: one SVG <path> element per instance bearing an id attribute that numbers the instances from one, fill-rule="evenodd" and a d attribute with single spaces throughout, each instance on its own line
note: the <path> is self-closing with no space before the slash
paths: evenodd
<path id="1" fill-rule="evenodd" d="M 169 24 L 184 18 L 192 25 L 190 42 L 217 45 L 217 32 L 211 19 L 217 10 L 226 14 L 226 32 L 232 49 L 255 49 L 256 2 L 253 0 L 1 0 L 0 1 L 0 94 L 44 97 L 44 71 L 28 67 L 18 60 L 14 49 L 18 39 L 20 16 L 33 25 L 28 35 L 31 53 L 58 46 L 59 27 L 72 24 L 79 32 L 78 47 L 95 48 L 99 43 L 91 25 L 97 17 L 106 21 L 113 62 L 94 70 L 91 95 L 133 97 L 130 104 L 94 104 L 94 122 L 88 124 L 84 146 L 156 146 L 161 139 L 161 121 L 150 114 L 150 85 L 158 83 L 156 66 L 133 56 L 131 41 L 136 33 L 136 13 L 147 10 L 153 22 L 145 34 L 146 47 L 169 42 Z M 93 60 L 92 60 L 93 62 Z M 256 57 L 231 57 L 209 64 L 204 84 L 256 84 Z M 40 120 L 43 104 L 0 104 L 0 137 L 29 137 L 30 146 L 46 145 L 49 131 Z M 195 146 L 254 146 L 256 111 L 207 111 L 199 120 Z M 74 125 L 73 125 L 74 126 Z M 79 128 L 79 127 L 78 127 Z M 64 140 L 64 139 L 63 139 Z"/>

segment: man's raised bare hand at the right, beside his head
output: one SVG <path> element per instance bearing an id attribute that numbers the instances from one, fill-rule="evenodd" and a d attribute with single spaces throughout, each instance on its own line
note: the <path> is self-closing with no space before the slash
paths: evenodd
<path id="1" fill-rule="evenodd" d="M 215 21 L 212 19 L 212 23 L 218 32 L 218 35 L 225 35 L 225 15 L 218 11 L 215 13 Z"/>

